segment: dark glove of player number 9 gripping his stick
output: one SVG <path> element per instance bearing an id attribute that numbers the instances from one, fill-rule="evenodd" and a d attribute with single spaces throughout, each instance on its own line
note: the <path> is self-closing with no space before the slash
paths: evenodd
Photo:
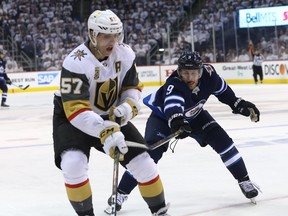
<path id="1" fill-rule="evenodd" d="M 179 130 L 182 131 L 176 139 L 184 139 L 192 132 L 189 122 L 184 118 L 182 113 L 172 115 L 168 120 L 168 124 L 172 133 Z"/>

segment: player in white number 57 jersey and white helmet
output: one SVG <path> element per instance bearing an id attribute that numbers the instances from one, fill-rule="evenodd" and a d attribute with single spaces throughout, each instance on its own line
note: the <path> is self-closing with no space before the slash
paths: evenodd
<path id="1" fill-rule="evenodd" d="M 61 169 L 68 199 L 79 216 L 94 216 L 88 178 L 91 148 L 114 157 L 138 181 L 152 215 L 168 215 L 164 190 L 155 162 L 125 140 L 145 143 L 130 122 L 139 111 L 142 83 L 135 54 L 123 43 L 123 25 L 111 11 L 94 11 L 88 19 L 89 40 L 64 60 L 60 90 L 54 97 L 55 164 Z M 121 118 L 121 124 L 115 118 Z M 99 162 L 101 163 L 101 162 Z M 111 179 L 112 181 L 112 179 Z"/>

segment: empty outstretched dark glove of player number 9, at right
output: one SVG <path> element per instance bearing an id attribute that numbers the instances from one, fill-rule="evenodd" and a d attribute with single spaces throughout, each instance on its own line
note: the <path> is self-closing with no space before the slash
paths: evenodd
<path id="1" fill-rule="evenodd" d="M 250 116 L 252 122 L 258 122 L 260 120 L 260 111 L 257 109 L 255 104 L 245 101 L 242 98 L 238 98 L 234 103 L 234 114 L 241 114 L 244 116 Z"/>

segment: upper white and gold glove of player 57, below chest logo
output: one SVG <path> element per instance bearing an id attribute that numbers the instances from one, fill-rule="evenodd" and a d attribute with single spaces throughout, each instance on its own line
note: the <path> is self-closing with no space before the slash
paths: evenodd
<path id="1" fill-rule="evenodd" d="M 126 102 L 117 107 L 111 108 L 109 119 L 115 121 L 115 118 L 118 117 L 121 119 L 121 126 L 126 125 L 128 121 L 138 115 L 140 107 L 141 106 L 137 101 L 128 98 Z"/>

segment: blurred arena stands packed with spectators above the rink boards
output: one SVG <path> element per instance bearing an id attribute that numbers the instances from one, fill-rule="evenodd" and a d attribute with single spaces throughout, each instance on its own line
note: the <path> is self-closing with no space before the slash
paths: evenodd
<path id="1" fill-rule="evenodd" d="M 174 64 L 183 49 L 200 52 L 204 62 L 252 61 L 250 40 L 265 60 L 288 59 L 288 0 L 1 0 L 0 5 L 0 50 L 8 73 L 60 70 L 67 54 L 88 39 L 87 18 L 97 9 L 111 9 L 122 20 L 124 42 L 135 51 L 138 66 Z M 239 24 L 243 9 L 281 6 L 287 7 L 282 24 Z M 263 20 L 258 15 L 251 20 Z"/>

